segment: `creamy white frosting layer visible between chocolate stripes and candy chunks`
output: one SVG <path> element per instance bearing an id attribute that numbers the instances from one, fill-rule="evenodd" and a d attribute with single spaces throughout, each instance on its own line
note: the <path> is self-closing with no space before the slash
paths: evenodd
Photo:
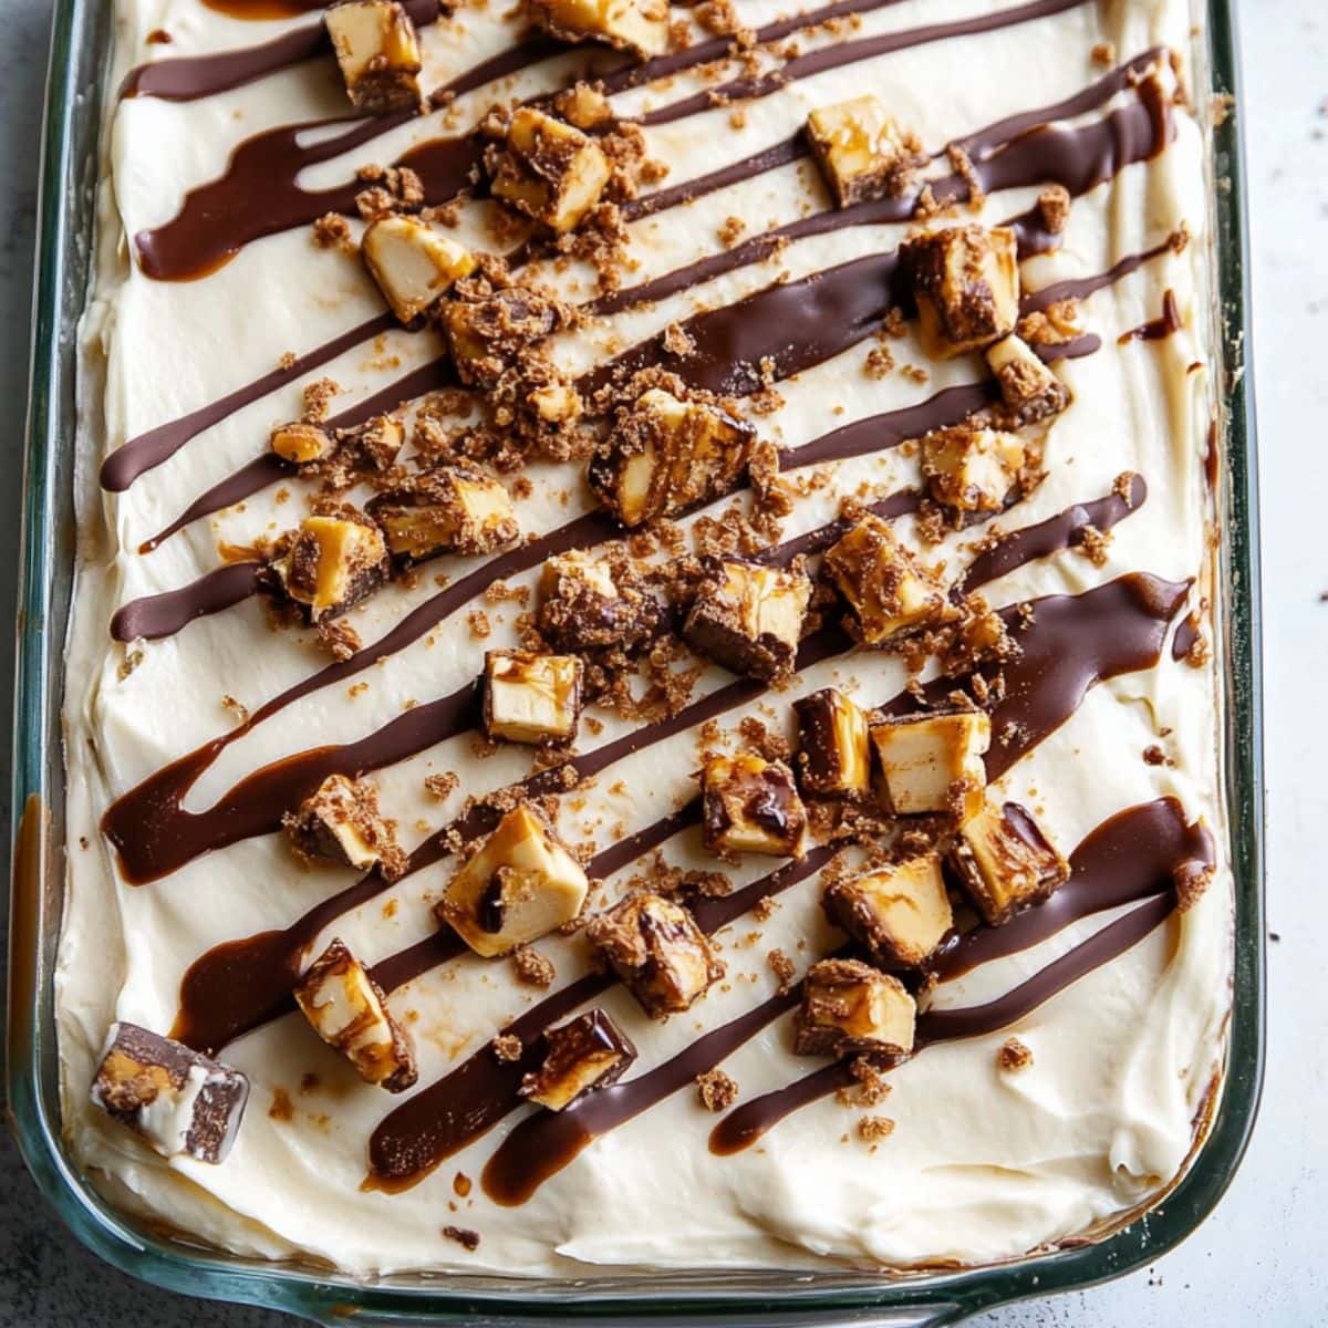
<path id="1" fill-rule="evenodd" d="M 911 29 L 992 9 L 1008 0 L 903 0 L 862 19 L 851 36 Z M 503 7 L 462 8 L 422 31 L 429 85 L 446 81 L 501 49 L 511 29 Z M 781 12 L 772 0 L 738 0 L 753 27 Z M 117 0 L 117 73 L 157 54 L 183 54 L 267 40 L 283 24 L 242 24 L 198 0 Z M 308 21 L 308 20 L 303 20 Z M 741 129 L 717 108 L 647 131 L 652 154 L 671 166 L 668 183 L 701 175 L 788 137 L 807 110 L 882 92 L 890 109 L 930 149 L 1012 113 L 1070 96 L 1104 72 L 1090 52 L 1112 42 L 1123 60 L 1167 42 L 1189 50 L 1190 7 L 1182 0 L 1084 4 L 979 37 L 922 45 L 794 82 L 746 108 Z M 165 28 L 173 45 L 149 46 Z M 831 36 L 806 39 L 805 48 Z M 568 60 L 529 70 L 509 88 L 527 96 L 547 88 Z M 114 82 L 109 84 L 114 86 Z M 692 76 L 665 89 L 623 94 L 631 113 L 704 86 Z M 450 124 L 465 127 L 494 96 L 461 98 Z M 1125 93 L 1121 104 L 1131 97 Z M 517 1208 L 493 1204 L 477 1183 L 469 1198 L 456 1174 L 478 1177 L 522 1108 L 417 1187 L 397 1195 L 364 1193 L 365 1146 L 377 1122 L 400 1101 L 361 1082 L 299 1017 L 288 1016 L 238 1040 L 223 1058 L 252 1082 L 248 1113 L 222 1166 L 187 1157 L 166 1161 L 89 1102 L 97 1053 L 114 1019 L 167 1032 L 182 973 L 219 942 L 283 927 L 349 883 L 349 871 L 301 870 L 279 837 L 214 851 L 145 887 L 120 876 L 98 819 L 110 802 L 167 761 L 234 725 L 223 697 L 254 709 L 325 663 L 301 633 L 274 632 L 256 602 L 186 627 L 177 636 L 126 649 L 108 632 L 113 611 L 137 596 L 183 586 L 216 566 L 218 543 L 244 544 L 275 534 L 304 513 L 304 486 L 266 490 L 242 507 L 199 521 L 155 552 L 139 543 L 173 521 L 199 493 L 258 456 L 272 424 L 299 412 L 299 382 L 235 412 L 127 493 L 102 495 L 96 467 L 126 438 L 218 398 L 270 372 L 284 352 L 308 351 L 376 316 L 381 303 L 360 267 L 313 247 L 307 227 L 250 244 L 230 263 L 191 283 L 146 279 L 127 259 L 127 239 L 161 224 L 187 190 L 216 177 L 244 137 L 284 122 L 344 113 L 329 68 L 307 64 L 248 88 L 189 104 L 151 98 L 122 102 L 109 120 L 109 189 L 104 193 L 96 299 L 86 319 L 80 510 L 84 540 L 68 668 L 70 871 L 57 999 L 66 1088 L 66 1125 L 81 1163 L 114 1178 L 117 1193 L 198 1238 L 242 1252 L 309 1254 L 355 1274 L 409 1268 L 495 1270 L 584 1276 L 623 1266 L 806 1266 L 822 1258 L 859 1266 L 930 1260 L 984 1262 L 1081 1232 L 1157 1193 L 1183 1165 L 1191 1122 L 1222 1054 L 1228 1008 L 1230 883 L 1224 858 L 1216 883 L 1198 907 L 1173 916 L 1125 955 L 1046 1001 L 1016 1027 L 940 1045 L 892 1073 L 880 1108 L 895 1123 L 875 1149 L 855 1133 L 858 1113 L 833 1098 L 776 1127 L 761 1143 L 729 1158 L 706 1149 L 714 1118 L 692 1092 L 680 1092 L 588 1147 L 570 1167 Z M 1093 113 L 1085 120 L 1094 118 Z M 438 131 L 441 113 L 392 131 L 351 154 L 307 171 L 309 189 L 343 182 L 352 167 L 389 161 Z M 1182 222 L 1193 243 L 1094 295 L 1086 324 L 1102 349 L 1058 368 L 1074 394 L 1048 441 L 1048 478 L 1007 527 L 1028 525 L 1074 502 L 1102 497 L 1121 471 L 1145 475 L 1149 498 L 1122 522 L 1098 567 L 1077 552 L 1032 563 L 989 587 L 997 604 L 1078 592 L 1129 571 L 1170 580 L 1195 576 L 1208 556 L 1211 498 L 1203 456 L 1212 398 L 1206 345 L 1208 296 L 1207 205 L 1203 142 L 1187 113 L 1158 159 L 1125 169 L 1076 202 L 1064 247 L 1024 264 L 1025 287 L 1101 272 L 1126 255 L 1158 244 Z M 1036 190 L 997 194 L 981 219 L 1025 208 Z M 729 216 L 748 234 L 803 214 L 815 193 L 803 162 L 770 171 L 632 227 L 632 280 L 672 271 L 721 248 Z M 817 206 L 821 206 L 819 203 Z M 459 230 L 483 240 L 483 206 L 473 205 Z M 657 305 L 620 315 L 559 347 L 568 367 L 627 345 L 695 308 L 725 304 L 782 274 L 801 276 L 850 258 L 894 247 L 899 226 L 858 227 L 797 242 L 776 262 L 740 268 Z M 588 272 L 548 272 L 572 297 L 591 291 Z M 1159 312 L 1175 292 L 1185 328 L 1157 343 L 1117 345 L 1117 336 Z M 892 343 L 899 364 L 923 364 L 930 380 L 902 372 L 863 372 L 869 345 L 855 347 L 797 381 L 784 384 L 784 405 L 757 420 L 764 434 L 794 446 L 854 418 L 915 404 L 943 386 L 971 381 L 976 360 L 928 364 L 911 336 Z M 393 332 L 347 352 L 311 377 L 343 386 L 351 404 L 440 353 L 433 333 Z M 104 392 L 102 392 L 104 389 Z M 522 530 L 542 533 L 590 506 L 572 467 L 535 467 L 534 493 L 518 502 Z M 799 503 L 785 535 L 822 525 L 841 497 L 861 485 L 882 491 L 916 482 L 908 449 L 846 462 L 825 487 Z M 567 497 L 570 494 L 570 498 Z M 910 521 L 898 529 L 910 534 Z M 981 531 L 951 537 L 928 560 L 956 568 Z M 434 590 L 433 572 L 469 570 L 461 559 L 430 564 L 416 588 L 394 586 L 351 615 L 373 641 Z M 517 578 L 530 584 L 534 574 Z M 1198 595 L 1198 592 L 1195 592 Z M 465 611 L 424 640 L 347 684 L 317 691 L 228 746 L 190 791 L 203 809 L 236 780 L 313 744 L 363 737 L 413 701 L 456 691 L 479 672 L 486 648 L 510 644 L 513 604 L 489 608 L 493 635 L 466 628 Z M 709 689 L 726 680 L 713 669 Z M 891 656 L 831 660 L 788 692 L 742 713 L 785 725 L 793 696 L 829 683 L 872 701 L 892 696 L 906 675 Z M 1181 799 L 1189 817 L 1212 829 L 1219 855 L 1218 704 L 1214 668 L 1173 661 L 1170 648 L 1150 671 L 1093 689 L 1077 713 L 1000 781 L 999 795 L 1033 807 L 1052 839 L 1069 853 L 1123 807 L 1162 795 Z M 582 750 L 627 732 L 608 714 Z M 1165 765 L 1143 750 L 1161 745 Z M 623 760 L 576 799 L 560 829 L 572 842 L 603 847 L 611 827 L 631 831 L 687 801 L 695 785 L 695 734 L 683 734 Z M 479 761 L 466 738 L 426 750 L 376 776 L 381 803 L 406 847 L 456 814 L 461 799 L 529 772 L 529 752 L 506 748 Z M 429 773 L 454 770 L 446 802 L 422 788 Z M 695 833 L 669 841 L 665 857 L 709 867 Z M 749 861 L 736 876 L 770 867 Z M 393 954 L 433 928 L 429 906 L 449 875 L 444 862 L 406 878 L 389 894 L 335 927 L 367 963 Z M 623 888 L 631 870 L 608 883 Z M 980 1004 L 1008 991 L 1113 915 L 1094 916 L 1036 948 L 976 969 L 935 993 L 938 1007 Z M 332 931 L 321 944 L 331 939 Z M 774 989 L 765 955 L 781 947 L 799 968 L 834 947 L 818 906 L 815 878 L 782 896 L 768 922 L 744 918 L 721 934 L 729 979 L 688 1015 L 653 1024 L 622 989 L 600 1004 L 632 1038 L 637 1074 L 660 1064 L 700 1031 L 736 1017 Z M 315 947 L 315 954 L 321 950 Z M 558 965 L 558 984 L 578 973 L 568 940 L 540 943 Z M 412 1031 L 420 1088 L 483 1045 L 505 1021 L 538 999 L 517 985 L 506 964 L 465 957 L 418 977 L 390 1004 Z M 1019 1073 L 997 1068 L 997 1049 L 1017 1035 L 1033 1052 Z M 791 1021 L 774 1021 L 737 1050 L 724 1069 L 744 1098 L 778 1088 L 817 1062 L 791 1052 Z M 315 1090 L 301 1090 L 305 1076 Z M 270 1106 L 290 1101 L 293 1110 Z M 845 1141 L 847 1135 L 847 1141 Z M 481 1234 L 473 1252 L 441 1234 L 444 1226 Z"/>

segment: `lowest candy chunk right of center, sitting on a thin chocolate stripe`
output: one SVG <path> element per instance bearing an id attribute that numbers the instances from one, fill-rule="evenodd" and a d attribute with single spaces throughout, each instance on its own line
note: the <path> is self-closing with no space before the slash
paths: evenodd
<path id="1" fill-rule="evenodd" d="M 794 1048 L 799 1056 L 907 1056 L 916 1017 L 898 977 L 858 959 L 822 959 L 802 983 Z"/>

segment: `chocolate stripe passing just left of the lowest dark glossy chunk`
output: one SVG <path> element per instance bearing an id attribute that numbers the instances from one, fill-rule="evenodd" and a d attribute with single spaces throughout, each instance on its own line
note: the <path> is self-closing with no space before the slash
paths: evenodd
<path id="1" fill-rule="evenodd" d="M 834 857 L 821 847 L 788 862 L 732 895 L 703 898 L 695 914 L 701 930 L 713 934 L 818 872 Z M 522 1102 L 522 1077 L 539 1066 L 543 1033 L 579 1005 L 618 985 L 611 973 L 588 973 L 533 1005 L 503 1032 L 519 1037 L 522 1054 L 499 1061 L 486 1044 L 456 1069 L 388 1113 L 369 1138 L 369 1175 L 364 1189 L 398 1194 L 425 1179 L 440 1163 L 493 1129 Z"/>

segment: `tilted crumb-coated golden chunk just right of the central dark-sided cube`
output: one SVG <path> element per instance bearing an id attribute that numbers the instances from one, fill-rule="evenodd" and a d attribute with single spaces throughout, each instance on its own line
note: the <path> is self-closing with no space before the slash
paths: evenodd
<path id="1" fill-rule="evenodd" d="M 823 566 L 849 602 L 867 645 L 950 616 L 940 587 L 879 517 L 863 517 Z"/>

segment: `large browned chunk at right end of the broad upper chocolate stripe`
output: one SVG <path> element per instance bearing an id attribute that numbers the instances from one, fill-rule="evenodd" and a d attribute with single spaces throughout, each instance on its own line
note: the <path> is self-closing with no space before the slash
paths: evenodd
<path id="1" fill-rule="evenodd" d="M 907 240 L 899 250 L 922 328 L 923 348 L 939 360 L 980 351 L 1019 321 L 1019 254 L 1005 226 L 952 226 Z"/>

